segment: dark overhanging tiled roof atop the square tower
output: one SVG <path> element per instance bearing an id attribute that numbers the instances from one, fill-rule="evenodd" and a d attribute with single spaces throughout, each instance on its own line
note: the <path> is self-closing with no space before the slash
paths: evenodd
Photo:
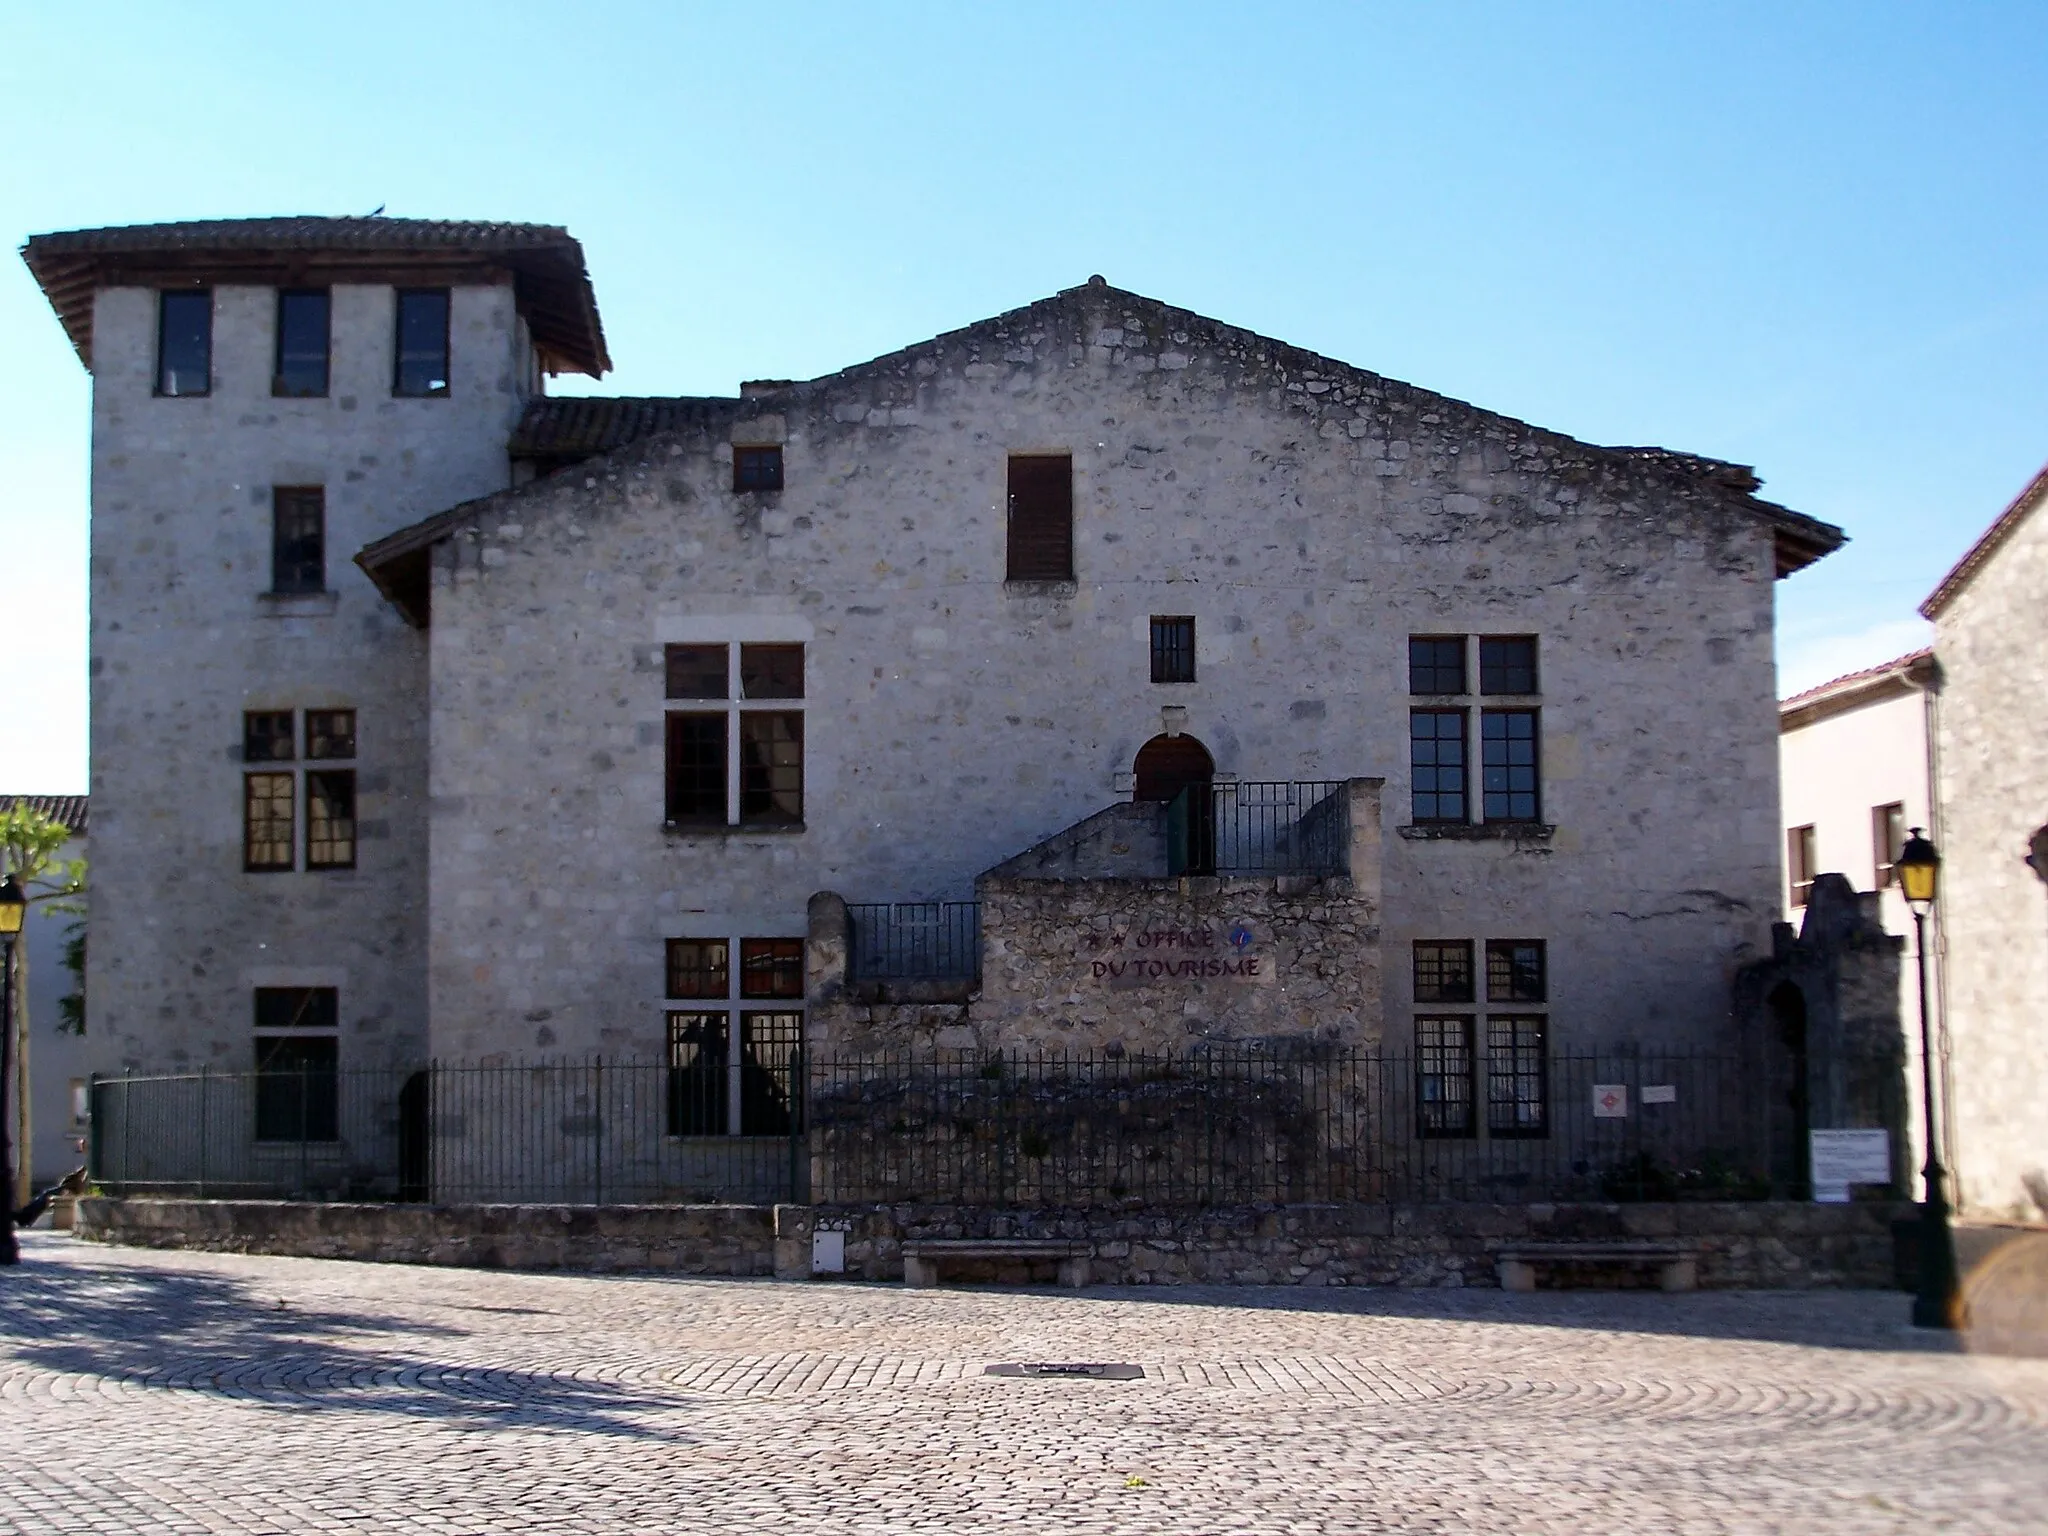
<path id="1" fill-rule="evenodd" d="M 551 365 L 602 375 L 610 367 L 584 248 L 551 223 L 469 219 L 197 219 L 35 236 L 20 256 L 92 367 L 92 293 L 113 281 L 346 281 L 348 268 L 483 260 L 512 268 L 520 311 Z M 424 276 L 424 274 L 422 274 Z"/>

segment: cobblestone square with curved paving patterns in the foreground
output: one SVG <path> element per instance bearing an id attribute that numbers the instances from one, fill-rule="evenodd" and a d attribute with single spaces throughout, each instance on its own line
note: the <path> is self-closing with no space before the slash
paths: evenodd
<path id="1" fill-rule="evenodd" d="M 2030 1532 L 2048 1360 L 1888 1292 L 0 1272 L 0 1528 Z M 981 1374 L 1128 1360 L 1143 1380 Z"/>

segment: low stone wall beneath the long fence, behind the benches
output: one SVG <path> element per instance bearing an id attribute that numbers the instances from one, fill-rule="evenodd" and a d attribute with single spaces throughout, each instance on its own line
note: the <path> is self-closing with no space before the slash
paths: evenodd
<path id="1" fill-rule="evenodd" d="M 1909 1204 L 1341 1204 L 1217 1210 L 967 1206 L 401 1206 L 281 1200 L 80 1200 L 78 1235 L 141 1247 L 516 1270 L 811 1274 L 844 1235 L 850 1280 L 901 1280 L 918 1237 L 1087 1241 L 1096 1284 L 1491 1286 L 1507 1243 L 1669 1239 L 1702 1286 L 1890 1286 Z M 819 1276 L 834 1278 L 834 1276 Z M 987 1280 L 1040 1280 L 989 1270 Z"/>

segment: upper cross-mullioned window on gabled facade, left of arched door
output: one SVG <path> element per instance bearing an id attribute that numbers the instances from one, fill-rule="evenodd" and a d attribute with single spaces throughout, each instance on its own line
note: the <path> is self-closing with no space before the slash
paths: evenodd
<path id="1" fill-rule="evenodd" d="M 805 647 L 670 645 L 664 672 L 666 823 L 801 827 Z"/>

